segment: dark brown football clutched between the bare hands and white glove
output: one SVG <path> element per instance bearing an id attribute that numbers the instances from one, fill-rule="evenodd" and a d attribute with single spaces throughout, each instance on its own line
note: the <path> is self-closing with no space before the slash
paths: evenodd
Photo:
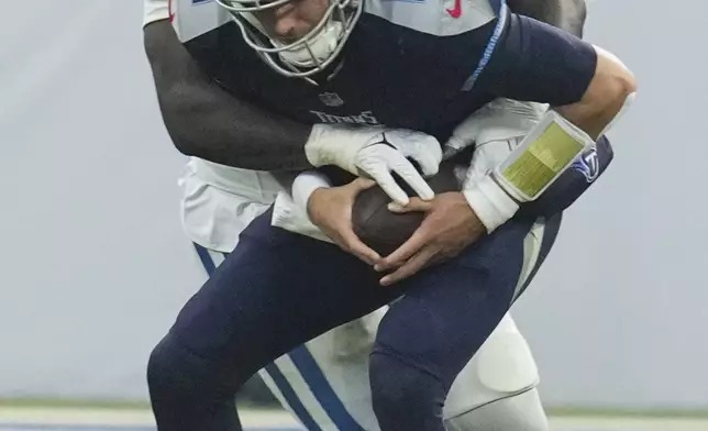
<path id="1" fill-rule="evenodd" d="M 400 181 L 399 181 L 400 184 Z M 460 190 L 455 177 L 455 164 L 443 162 L 436 175 L 428 178 L 435 194 Z M 408 196 L 416 194 L 405 184 L 401 187 Z M 403 244 L 423 221 L 422 212 L 397 214 L 387 208 L 391 199 L 384 190 L 374 186 L 362 191 L 352 208 L 354 233 L 381 256 L 386 256 Z"/>

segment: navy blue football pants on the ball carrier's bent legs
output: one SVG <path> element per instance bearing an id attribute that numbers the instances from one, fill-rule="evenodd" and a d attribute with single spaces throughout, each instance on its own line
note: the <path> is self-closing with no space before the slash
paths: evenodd
<path id="1" fill-rule="evenodd" d="M 384 431 L 444 430 L 447 390 L 509 309 L 533 222 L 513 220 L 457 258 L 381 287 L 354 256 L 273 228 L 270 216 L 241 234 L 153 351 L 158 429 L 240 430 L 234 395 L 259 368 L 399 298 L 370 357 L 377 419 Z"/>

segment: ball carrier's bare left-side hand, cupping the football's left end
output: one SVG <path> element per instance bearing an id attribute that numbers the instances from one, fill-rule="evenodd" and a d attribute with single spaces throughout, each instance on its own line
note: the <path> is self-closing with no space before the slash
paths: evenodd
<path id="1" fill-rule="evenodd" d="M 319 188 L 310 195 L 307 211 L 310 221 L 336 245 L 369 265 L 380 259 L 378 253 L 364 244 L 352 229 L 352 207 L 356 196 L 376 185 L 365 178 L 332 188 Z"/>

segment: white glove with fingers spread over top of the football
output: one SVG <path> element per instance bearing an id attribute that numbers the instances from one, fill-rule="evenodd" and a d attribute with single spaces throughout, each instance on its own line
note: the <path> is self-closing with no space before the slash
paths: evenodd
<path id="1" fill-rule="evenodd" d="M 336 165 L 354 175 L 370 177 L 401 206 L 408 203 L 409 197 L 391 173 L 398 174 L 421 199 L 430 200 L 435 196 L 423 176 L 438 174 L 442 148 L 435 137 L 425 133 L 316 124 L 305 151 L 312 166 Z M 422 175 L 407 157 L 418 164 Z"/>

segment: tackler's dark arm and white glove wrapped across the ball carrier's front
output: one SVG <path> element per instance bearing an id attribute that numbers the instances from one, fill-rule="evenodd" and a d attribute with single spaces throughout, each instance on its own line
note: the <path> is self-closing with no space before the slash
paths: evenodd
<path id="1" fill-rule="evenodd" d="M 147 14 L 152 21 L 144 30 L 145 52 L 163 120 L 181 153 L 272 173 L 334 165 L 367 175 L 405 205 L 408 196 L 396 183 L 396 173 L 418 196 L 432 199 L 433 191 L 409 158 L 423 175 L 436 174 L 442 151 L 435 137 L 405 130 L 386 130 L 384 135 L 379 126 L 306 125 L 262 110 L 201 70 L 164 19 L 167 8 L 166 0 L 159 2 L 162 20 Z"/>

